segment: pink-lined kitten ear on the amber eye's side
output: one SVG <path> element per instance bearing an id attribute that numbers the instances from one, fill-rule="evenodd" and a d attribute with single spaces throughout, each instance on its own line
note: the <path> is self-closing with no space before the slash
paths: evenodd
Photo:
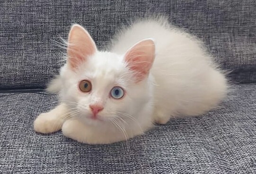
<path id="1" fill-rule="evenodd" d="M 82 26 L 72 25 L 68 39 L 68 65 L 74 69 L 96 51 L 96 44 L 90 34 Z"/>

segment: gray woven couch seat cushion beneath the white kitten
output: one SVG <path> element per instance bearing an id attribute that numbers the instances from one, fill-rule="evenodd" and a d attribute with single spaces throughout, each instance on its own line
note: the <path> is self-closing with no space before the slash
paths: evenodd
<path id="1" fill-rule="evenodd" d="M 173 118 L 129 142 L 81 144 L 61 132 L 33 131 L 56 105 L 44 92 L 0 94 L 0 173 L 253 174 L 256 84 L 236 85 L 221 108 Z"/>

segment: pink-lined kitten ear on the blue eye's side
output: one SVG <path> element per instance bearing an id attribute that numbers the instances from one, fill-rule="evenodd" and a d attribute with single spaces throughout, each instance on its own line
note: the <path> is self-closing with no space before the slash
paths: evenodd
<path id="1" fill-rule="evenodd" d="M 149 74 L 155 58 L 155 43 L 152 39 L 142 40 L 130 48 L 124 60 L 134 72 L 136 82 L 140 82 Z"/>

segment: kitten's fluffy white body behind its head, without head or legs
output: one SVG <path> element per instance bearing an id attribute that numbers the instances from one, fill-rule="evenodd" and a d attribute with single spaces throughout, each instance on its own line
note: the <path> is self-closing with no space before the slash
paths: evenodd
<path id="1" fill-rule="evenodd" d="M 203 44 L 168 20 L 146 19 L 121 31 L 111 51 L 123 55 L 135 43 L 151 38 L 156 56 L 150 70 L 154 78 L 154 100 L 163 114 L 197 115 L 226 95 L 227 81 Z"/>

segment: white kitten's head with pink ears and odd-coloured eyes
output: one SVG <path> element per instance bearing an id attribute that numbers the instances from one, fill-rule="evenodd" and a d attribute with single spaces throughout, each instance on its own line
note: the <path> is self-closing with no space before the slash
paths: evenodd
<path id="1" fill-rule="evenodd" d="M 88 123 L 137 117 L 151 105 L 149 76 L 154 57 L 155 45 L 151 39 L 142 40 L 123 55 L 117 55 L 97 50 L 89 33 L 80 25 L 73 25 L 68 38 L 67 63 L 61 70 L 60 97 L 73 116 L 82 117 Z"/>

